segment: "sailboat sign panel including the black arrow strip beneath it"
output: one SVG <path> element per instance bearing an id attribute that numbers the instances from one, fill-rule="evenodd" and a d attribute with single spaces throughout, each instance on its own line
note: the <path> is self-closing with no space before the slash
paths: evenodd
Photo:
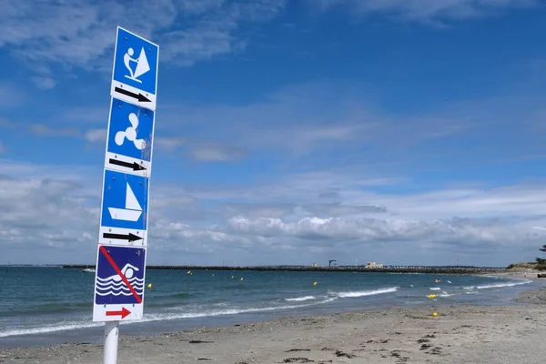
<path id="1" fill-rule="evenodd" d="M 99 244 L 147 246 L 148 182 L 105 169 Z"/>

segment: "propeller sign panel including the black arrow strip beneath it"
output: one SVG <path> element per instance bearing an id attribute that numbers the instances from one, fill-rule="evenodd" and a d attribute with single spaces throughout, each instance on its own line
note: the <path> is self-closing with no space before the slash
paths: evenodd
<path id="1" fill-rule="evenodd" d="M 149 177 L 155 112 L 112 98 L 105 167 Z"/>

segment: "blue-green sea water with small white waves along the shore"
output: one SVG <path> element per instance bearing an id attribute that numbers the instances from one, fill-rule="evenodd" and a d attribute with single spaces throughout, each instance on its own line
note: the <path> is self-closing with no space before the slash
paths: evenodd
<path id="1" fill-rule="evenodd" d="M 101 340 L 104 324 L 92 322 L 94 279 L 94 273 L 80 269 L 0 271 L 0 348 Z M 122 323 L 121 335 L 367 308 L 511 304 L 521 290 L 541 287 L 528 279 L 470 275 L 232 270 L 188 274 L 156 269 L 147 270 L 149 283 L 144 319 Z"/>

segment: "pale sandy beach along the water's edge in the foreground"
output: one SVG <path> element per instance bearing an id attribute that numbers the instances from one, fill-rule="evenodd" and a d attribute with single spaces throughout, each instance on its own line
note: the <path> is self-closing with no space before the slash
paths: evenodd
<path id="1" fill-rule="evenodd" d="M 118 363 L 543 362 L 546 288 L 516 300 L 519 305 L 363 310 L 153 337 L 126 337 L 122 326 Z M 102 344 L 0 351 L 0 363 L 101 362 Z"/>

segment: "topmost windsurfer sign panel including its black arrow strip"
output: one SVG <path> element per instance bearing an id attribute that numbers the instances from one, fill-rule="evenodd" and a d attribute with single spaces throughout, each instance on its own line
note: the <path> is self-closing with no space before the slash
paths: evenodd
<path id="1" fill-rule="evenodd" d="M 156 110 L 159 45 L 118 26 L 110 95 Z"/>

